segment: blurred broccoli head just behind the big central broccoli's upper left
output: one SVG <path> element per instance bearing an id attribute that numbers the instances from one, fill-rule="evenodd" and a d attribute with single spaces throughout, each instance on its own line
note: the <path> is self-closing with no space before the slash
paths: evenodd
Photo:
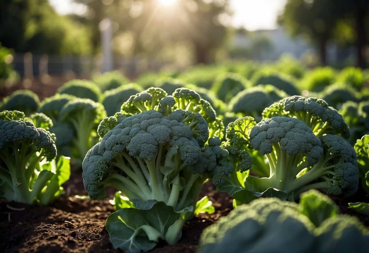
<path id="1" fill-rule="evenodd" d="M 115 112 L 120 111 L 121 105 L 127 101 L 132 95 L 142 90 L 137 84 L 131 83 L 120 86 L 116 89 L 107 90 L 101 97 L 101 104 L 104 105 L 108 116 L 113 116 Z"/>

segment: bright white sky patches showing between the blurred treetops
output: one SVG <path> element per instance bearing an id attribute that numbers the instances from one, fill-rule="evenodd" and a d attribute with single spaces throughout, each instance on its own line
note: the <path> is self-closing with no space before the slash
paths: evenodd
<path id="1" fill-rule="evenodd" d="M 72 0 L 49 0 L 60 14 L 83 13 L 84 7 Z M 232 24 L 249 31 L 276 28 L 278 14 L 286 0 L 230 0 L 234 11 Z"/>

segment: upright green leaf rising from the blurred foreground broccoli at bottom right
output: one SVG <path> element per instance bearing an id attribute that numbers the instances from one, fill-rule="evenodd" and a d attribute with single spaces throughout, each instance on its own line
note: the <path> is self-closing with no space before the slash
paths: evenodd
<path id="1" fill-rule="evenodd" d="M 318 227 L 328 218 L 339 214 L 338 206 L 317 190 L 310 190 L 300 195 L 299 211 Z"/>

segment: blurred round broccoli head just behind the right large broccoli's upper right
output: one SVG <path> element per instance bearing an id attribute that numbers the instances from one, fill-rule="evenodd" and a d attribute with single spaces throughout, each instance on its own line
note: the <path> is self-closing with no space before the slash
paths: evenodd
<path id="1" fill-rule="evenodd" d="M 322 91 L 321 98 L 323 98 L 328 105 L 340 108 L 346 101 L 359 101 L 360 94 L 358 94 L 355 89 L 345 84 L 332 84 Z"/>

